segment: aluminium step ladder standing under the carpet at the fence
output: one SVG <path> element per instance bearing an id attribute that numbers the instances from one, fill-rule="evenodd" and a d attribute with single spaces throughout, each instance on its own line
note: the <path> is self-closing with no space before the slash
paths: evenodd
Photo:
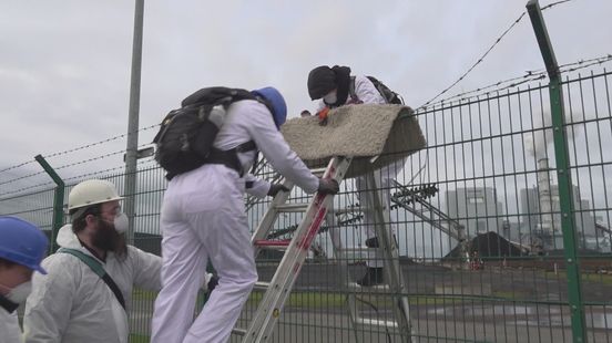
<path id="1" fill-rule="evenodd" d="M 344 179 L 344 176 L 346 175 L 346 172 L 348 170 L 348 167 L 350 165 L 351 158 L 347 157 L 334 157 L 328 164 L 327 168 L 322 168 L 317 170 L 313 170 L 314 174 L 320 175 L 323 173 L 324 178 L 334 178 L 338 183 L 341 183 Z M 374 176 L 371 176 L 371 181 L 374 183 Z M 293 184 L 288 180 L 284 181 L 284 185 L 287 188 L 292 188 Z M 378 193 L 376 193 L 378 195 Z M 320 230 L 323 220 L 327 220 L 328 225 L 330 225 L 333 221 L 330 221 L 330 217 L 335 217 L 332 215 L 332 208 L 333 208 L 333 195 L 319 195 L 316 194 L 310 202 L 305 204 L 286 204 L 287 199 L 289 197 L 289 191 L 282 191 L 274 197 L 273 201 L 271 202 L 268 210 L 262 218 L 259 225 L 257 226 L 252 241 L 254 246 L 255 256 L 262 250 L 262 249 L 284 249 L 285 254 L 278 264 L 278 268 L 276 269 L 276 272 L 272 279 L 272 281 L 268 282 L 257 282 L 255 284 L 256 290 L 264 290 L 265 294 L 259 302 L 257 310 L 254 314 L 254 316 L 251 319 L 248 328 L 246 330 L 241 329 L 234 329 L 233 333 L 243 335 L 243 343 L 246 342 L 266 342 L 269 340 L 274 326 L 283 311 L 283 306 L 287 300 L 287 298 L 290 294 L 290 291 L 293 290 L 293 285 L 299 274 L 299 271 L 302 269 L 302 266 L 304 264 L 304 261 L 307 257 L 308 249 L 310 248 L 310 245 L 313 243 L 315 237 Z M 375 208 L 380 208 L 380 201 L 379 197 L 375 197 L 376 201 L 378 201 L 378 206 L 375 204 Z M 298 225 L 297 229 L 294 232 L 294 236 L 290 240 L 267 240 L 268 232 L 274 227 L 274 224 L 276 221 L 276 218 L 279 214 L 283 212 L 304 212 L 305 216 L 303 217 L 302 222 Z M 388 214 L 385 217 L 384 210 L 378 210 L 379 212 L 377 215 L 377 222 L 389 222 Z M 388 211 L 387 211 L 388 212 Z M 332 216 L 329 216 L 332 215 Z M 327 219 L 326 219 L 327 218 Z M 382 220 L 382 221 L 380 221 Z M 381 226 L 382 227 L 382 226 Z M 380 231 L 377 228 L 377 232 Z M 386 231 L 386 230 L 382 230 Z M 382 245 L 388 248 L 384 248 L 385 251 L 385 266 L 388 268 L 385 268 L 386 270 L 386 280 L 390 280 L 390 284 L 394 284 L 391 287 L 391 291 L 395 292 L 395 294 L 406 294 L 404 291 L 404 280 L 401 278 L 401 271 L 399 269 L 399 260 L 398 260 L 398 252 L 397 252 L 397 243 L 394 242 L 392 245 L 388 245 L 389 242 L 389 233 L 380 232 L 379 237 L 381 238 Z M 334 239 L 333 239 L 334 241 Z M 336 243 L 334 242 L 334 250 L 335 256 L 340 250 L 336 249 Z M 336 252 L 338 251 L 338 252 Z M 340 259 L 343 260 L 343 259 Z M 395 260 L 391 261 L 391 260 Z M 345 260 L 346 261 L 346 260 Z M 346 266 L 344 266 L 346 267 Z M 346 268 L 341 268 L 345 272 L 347 271 Z M 346 276 L 346 274 L 345 274 Z M 344 279 L 348 280 L 348 279 Z M 409 342 L 411 332 L 410 332 L 410 322 L 409 322 L 409 311 L 408 311 L 408 301 L 407 298 L 400 297 L 398 298 L 397 309 L 395 309 L 395 315 L 399 320 L 397 322 L 390 322 L 390 321 L 377 321 L 371 319 L 365 319 L 359 318 L 357 313 L 350 309 L 356 309 L 355 306 L 355 293 L 349 293 L 349 298 L 347 299 L 347 302 L 349 304 L 349 315 L 353 320 L 354 328 L 363 326 L 363 325 L 377 325 L 377 326 L 385 326 L 385 328 L 396 328 L 396 330 L 399 330 L 400 332 L 404 332 L 401 335 L 404 342 Z"/>

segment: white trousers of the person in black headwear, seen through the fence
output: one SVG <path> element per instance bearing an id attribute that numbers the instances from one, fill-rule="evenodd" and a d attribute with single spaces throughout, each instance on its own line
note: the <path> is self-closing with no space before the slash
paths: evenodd
<path id="1" fill-rule="evenodd" d="M 387 165 L 380 169 L 374 170 L 374 178 L 376 179 L 377 185 L 371 185 L 370 181 L 368 181 L 368 176 L 359 176 L 355 179 L 355 187 L 357 188 L 357 196 L 359 197 L 359 205 L 361 207 L 361 211 L 364 214 L 364 228 L 366 229 L 366 237 L 373 238 L 376 237 L 376 216 L 374 214 L 375 207 L 374 207 L 374 196 L 378 191 L 378 196 L 380 197 L 380 200 L 382 201 L 384 211 L 387 211 L 387 214 L 390 212 L 390 205 L 391 205 L 391 190 L 390 188 L 394 186 L 394 180 L 399 173 L 404 168 L 405 160 L 400 160 L 390 165 Z M 377 188 L 379 187 L 379 188 Z M 389 230 L 388 235 L 389 237 L 392 237 L 392 230 L 390 222 L 387 222 L 385 225 L 385 230 Z M 385 260 L 384 254 L 380 249 L 374 249 L 374 259 L 368 259 L 366 261 L 366 264 L 368 267 L 373 268 L 380 268 L 385 267 Z M 369 256 L 369 254 L 368 254 Z"/>

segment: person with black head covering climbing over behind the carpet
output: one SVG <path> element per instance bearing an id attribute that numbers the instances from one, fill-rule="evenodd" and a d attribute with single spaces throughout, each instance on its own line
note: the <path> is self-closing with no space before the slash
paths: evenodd
<path id="1" fill-rule="evenodd" d="M 354 84 L 351 84 L 354 83 Z M 308 74 L 308 95 L 312 100 L 319 100 L 317 114 L 322 121 L 325 119 L 320 114 L 327 114 L 327 108 L 335 108 L 348 104 L 386 104 L 385 97 L 371 83 L 367 76 L 350 76 L 350 67 L 338 66 L 329 67 L 322 65 L 313 69 Z M 353 92 L 350 92 L 353 90 Z M 405 162 L 394 163 L 382 168 L 374 170 L 374 177 L 378 187 L 381 189 L 381 201 L 389 210 L 391 195 L 390 188 L 397 174 L 404 168 Z M 364 209 L 364 227 L 367 239 L 366 247 L 376 249 L 375 258 L 366 261 L 366 273 L 357 281 L 363 287 L 371 287 L 384 283 L 382 268 L 384 256 L 380 249 L 377 249 L 378 238 L 375 230 L 374 216 L 374 189 L 375 185 L 367 183 L 366 176 L 359 176 L 355 180 L 357 195 Z M 387 228 L 391 233 L 390 227 Z"/>

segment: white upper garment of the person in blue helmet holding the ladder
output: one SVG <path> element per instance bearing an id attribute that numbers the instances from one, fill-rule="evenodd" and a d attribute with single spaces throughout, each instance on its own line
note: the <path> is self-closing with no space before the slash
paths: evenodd
<path id="1" fill-rule="evenodd" d="M 222 150 L 234 148 L 248 141 L 255 142 L 257 149 L 280 175 L 285 176 L 306 193 L 315 193 L 318 188 L 318 178 L 310 173 L 304 162 L 297 157 L 280 132 L 276 128 L 272 114 L 267 107 L 253 100 L 233 103 L 227 117 L 218 132 L 214 146 Z M 244 170 L 253 164 L 255 152 L 239 154 L 238 158 Z M 246 175 L 245 181 L 253 181 L 247 193 L 264 197 L 269 190 L 269 183 Z"/>

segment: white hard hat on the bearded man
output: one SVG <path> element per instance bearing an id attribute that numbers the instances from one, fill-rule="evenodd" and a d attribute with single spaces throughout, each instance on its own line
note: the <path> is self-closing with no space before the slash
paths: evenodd
<path id="1" fill-rule="evenodd" d="M 115 186 L 106 180 L 86 180 L 74 186 L 68 196 L 68 210 L 102 204 L 113 200 L 121 200 Z"/>

